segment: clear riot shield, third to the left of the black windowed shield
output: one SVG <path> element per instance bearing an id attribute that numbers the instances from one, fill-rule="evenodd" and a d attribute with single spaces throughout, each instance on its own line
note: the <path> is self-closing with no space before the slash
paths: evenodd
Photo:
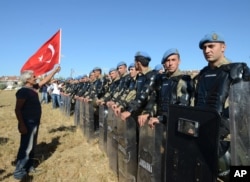
<path id="1" fill-rule="evenodd" d="M 107 117 L 107 155 L 109 158 L 109 167 L 118 175 L 118 139 L 117 139 L 117 121 L 112 108 L 108 108 Z"/>

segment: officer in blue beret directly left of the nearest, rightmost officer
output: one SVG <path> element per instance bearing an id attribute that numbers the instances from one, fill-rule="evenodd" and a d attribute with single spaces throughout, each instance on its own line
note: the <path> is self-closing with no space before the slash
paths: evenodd
<path id="1" fill-rule="evenodd" d="M 152 128 L 155 123 L 165 123 L 169 104 L 190 105 L 193 84 L 191 77 L 180 71 L 180 62 L 180 54 L 176 48 L 171 48 L 164 53 L 161 64 L 164 65 L 166 72 L 158 74 L 156 78 L 154 94 L 144 114 L 138 117 L 140 126 L 143 126 L 149 117 L 148 124 Z"/>

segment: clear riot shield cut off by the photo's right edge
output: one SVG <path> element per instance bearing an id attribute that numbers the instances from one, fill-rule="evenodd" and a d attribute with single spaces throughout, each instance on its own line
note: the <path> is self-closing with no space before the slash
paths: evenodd
<path id="1" fill-rule="evenodd" d="M 231 86 L 229 118 L 231 131 L 231 165 L 250 166 L 250 82 Z"/>

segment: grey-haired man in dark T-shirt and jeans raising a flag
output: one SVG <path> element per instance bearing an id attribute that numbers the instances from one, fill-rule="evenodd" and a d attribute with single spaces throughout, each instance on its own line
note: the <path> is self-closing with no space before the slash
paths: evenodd
<path id="1" fill-rule="evenodd" d="M 60 71 L 60 66 L 54 69 L 39 83 L 34 71 L 21 73 L 23 87 L 16 93 L 15 114 L 18 120 L 18 130 L 21 134 L 20 146 L 17 153 L 17 164 L 14 171 L 16 179 L 22 179 L 27 173 L 35 172 L 34 148 L 37 144 L 38 129 L 42 114 L 38 97 L 38 89 L 50 81 Z"/>

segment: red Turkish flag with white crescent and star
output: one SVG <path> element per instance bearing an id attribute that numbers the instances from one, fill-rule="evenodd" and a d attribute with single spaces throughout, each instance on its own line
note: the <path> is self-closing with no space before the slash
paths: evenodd
<path id="1" fill-rule="evenodd" d="M 33 70 L 35 76 L 52 70 L 59 63 L 61 49 L 61 30 L 45 42 L 23 65 L 21 72 Z"/>

